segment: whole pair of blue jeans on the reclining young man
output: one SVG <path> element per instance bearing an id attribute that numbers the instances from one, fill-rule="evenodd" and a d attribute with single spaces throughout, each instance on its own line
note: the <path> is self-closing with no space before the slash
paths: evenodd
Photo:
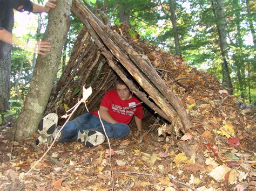
<path id="1" fill-rule="evenodd" d="M 102 122 L 106 131 L 106 135 L 109 138 L 122 139 L 130 133 L 130 127 L 125 123 L 112 124 L 104 121 L 103 119 Z M 90 112 L 86 112 L 76 119 L 66 123 L 62 129 L 62 136 L 58 142 L 63 143 L 69 142 L 71 140 L 77 140 L 77 135 L 80 129 L 96 130 L 102 132 L 105 135 L 99 117 L 91 114 Z"/>

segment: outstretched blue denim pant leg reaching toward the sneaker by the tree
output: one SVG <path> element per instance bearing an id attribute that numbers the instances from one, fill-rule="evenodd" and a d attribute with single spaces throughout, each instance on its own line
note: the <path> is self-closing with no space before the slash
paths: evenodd
<path id="1" fill-rule="evenodd" d="M 100 125 L 99 118 L 90 112 L 80 115 L 76 119 L 66 123 L 62 129 L 62 136 L 59 143 L 69 142 L 71 140 L 77 140 L 78 131 L 80 129 L 88 130 L 95 129 Z"/>

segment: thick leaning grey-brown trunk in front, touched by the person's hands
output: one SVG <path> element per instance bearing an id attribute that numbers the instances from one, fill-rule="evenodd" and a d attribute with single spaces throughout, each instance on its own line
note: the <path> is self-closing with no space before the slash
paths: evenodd
<path id="1" fill-rule="evenodd" d="M 17 119 L 16 140 L 24 139 L 37 129 L 48 103 L 55 80 L 63 45 L 70 26 L 72 0 L 56 1 L 56 8 L 49 12 L 49 23 L 44 41 L 51 43 L 51 51 L 37 58 L 35 70 L 21 115 Z M 61 29 L 61 30 L 59 30 Z"/>

